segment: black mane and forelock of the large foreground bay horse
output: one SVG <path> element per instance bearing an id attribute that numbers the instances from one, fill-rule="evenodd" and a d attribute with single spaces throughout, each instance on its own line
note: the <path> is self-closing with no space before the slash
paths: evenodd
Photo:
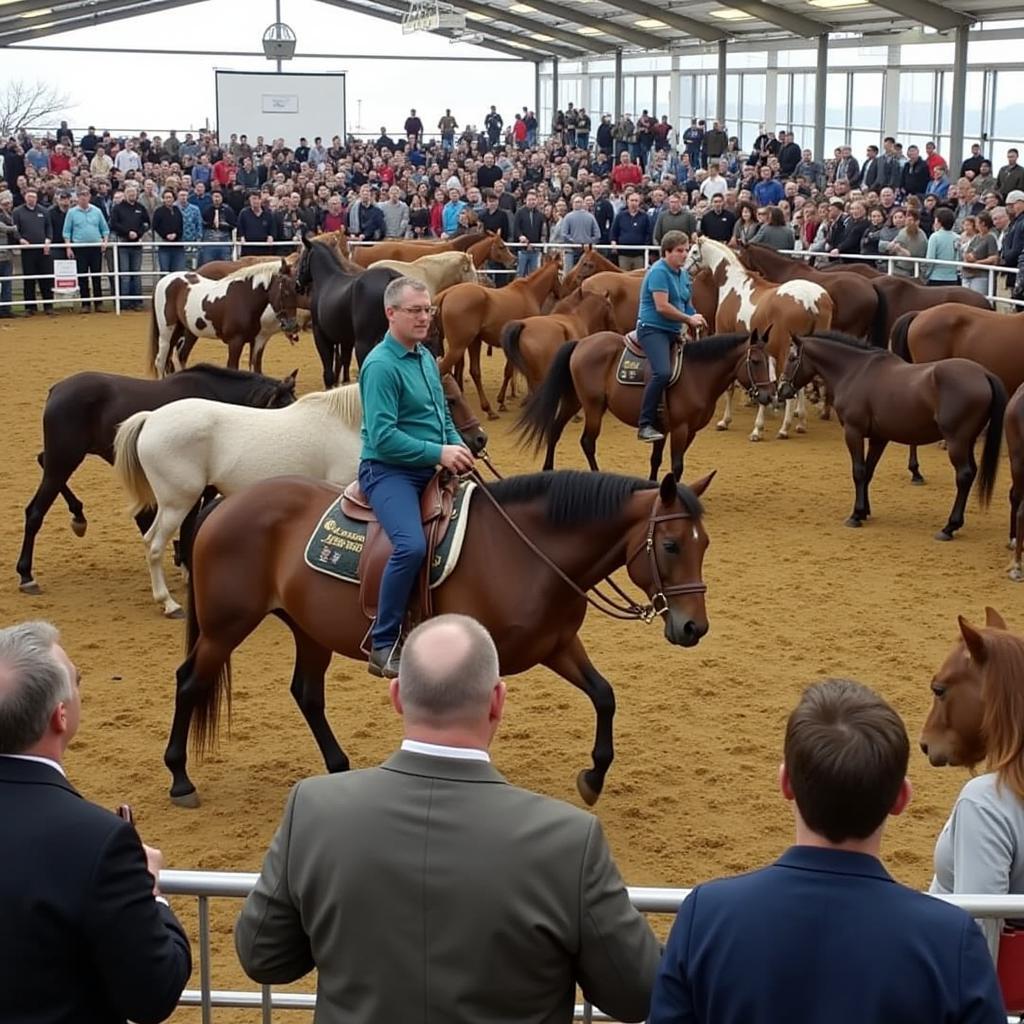
<path id="1" fill-rule="evenodd" d="M 656 490 L 657 483 L 616 473 L 590 473 L 562 469 L 547 473 L 508 476 L 486 484 L 500 505 L 520 505 L 546 498 L 545 517 L 552 526 L 579 526 L 609 519 L 638 490 Z M 703 506 L 685 483 L 678 486 L 683 508 L 694 519 L 703 515 Z"/>

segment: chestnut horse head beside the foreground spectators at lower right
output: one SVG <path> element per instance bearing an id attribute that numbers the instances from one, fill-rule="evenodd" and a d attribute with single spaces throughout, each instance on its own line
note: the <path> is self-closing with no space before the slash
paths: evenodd
<path id="1" fill-rule="evenodd" d="M 985 757 L 985 640 L 963 615 L 957 621 L 961 637 L 932 677 L 932 709 L 921 730 L 921 750 L 937 768 L 970 767 Z M 985 608 L 985 626 L 1007 629 L 994 608 Z"/>

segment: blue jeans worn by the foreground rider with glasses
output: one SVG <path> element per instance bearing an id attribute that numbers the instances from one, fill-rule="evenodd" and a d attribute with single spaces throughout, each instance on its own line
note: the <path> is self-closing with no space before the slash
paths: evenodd
<path id="1" fill-rule="evenodd" d="M 430 468 L 393 466 L 375 459 L 359 463 L 359 486 L 394 548 L 381 579 L 373 628 L 374 650 L 393 647 L 401 635 L 409 598 L 427 557 L 420 495 L 433 475 Z"/>

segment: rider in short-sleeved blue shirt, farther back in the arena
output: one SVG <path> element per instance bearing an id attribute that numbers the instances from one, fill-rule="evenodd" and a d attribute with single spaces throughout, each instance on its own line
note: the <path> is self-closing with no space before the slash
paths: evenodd
<path id="1" fill-rule="evenodd" d="M 683 269 L 688 246 L 685 231 L 666 231 L 662 258 L 640 286 L 637 341 L 647 353 L 650 380 L 644 388 L 637 437 L 649 443 L 665 440 L 657 407 L 672 379 L 672 346 L 679 341 L 682 326 L 694 330 L 708 326 L 690 301 L 690 275 Z"/>

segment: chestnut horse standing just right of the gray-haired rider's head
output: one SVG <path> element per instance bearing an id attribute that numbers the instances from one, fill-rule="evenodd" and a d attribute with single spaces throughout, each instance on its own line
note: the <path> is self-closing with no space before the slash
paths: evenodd
<path id="1" fill-rule="evenodd" d="M 498 414 L 490 409 L 480 376 L 480 345 L 500 345 L 501 334 L 509 321 L 537 316 L 544 300 L 561 294 L 558 281 L 562 258 L 556 255 L 543 263 L 528 278 L 518 278 L 504 288 L 482 285 L 456 285 L 437 299 L 436 323 L 440 325 L 446 351 L 441 373 L 446 374 L 469 352 L 469 376 L 480 396 L 480 409 L 490 420 Z"/>

